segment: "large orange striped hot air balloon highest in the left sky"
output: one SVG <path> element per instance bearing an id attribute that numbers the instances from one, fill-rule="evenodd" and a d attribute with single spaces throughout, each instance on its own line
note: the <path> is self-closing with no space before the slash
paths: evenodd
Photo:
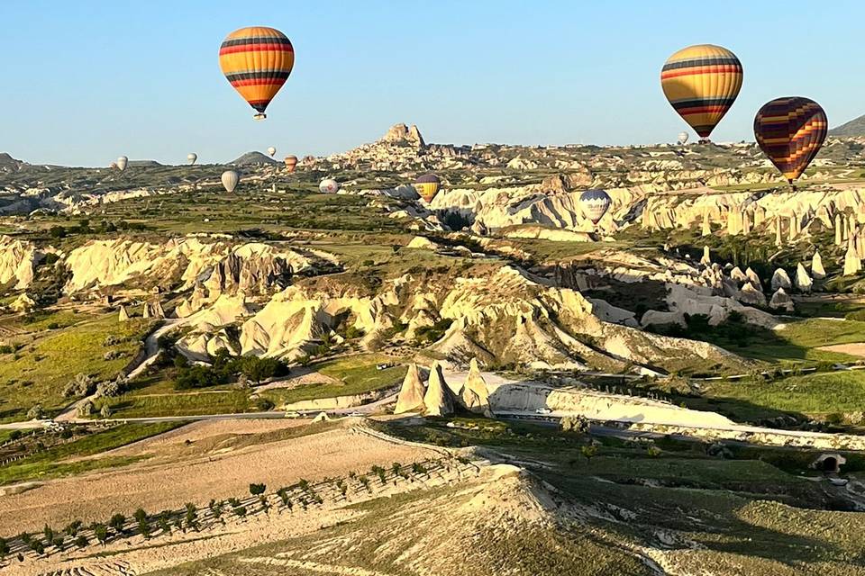
<path id="1" fill-rule="evenodd" d="M 219 48 L 219 66 L 242 98 L 264 113 L 295 65 L 295 50 L 286 35 L 273 28 L 252 26 L 229 34 Z M 271 154 L 271 156 L 273 156 Z"/>

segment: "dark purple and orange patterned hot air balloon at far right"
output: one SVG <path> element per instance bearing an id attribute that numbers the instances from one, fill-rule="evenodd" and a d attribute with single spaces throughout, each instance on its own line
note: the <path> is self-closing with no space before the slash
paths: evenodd
<path id="1" fill-rule="evenodd" d="M 757 144 L 791 186 L 820 151 L 828 128 L 820 104 L 800 96 L 765 103 L 754 118 Z"/>

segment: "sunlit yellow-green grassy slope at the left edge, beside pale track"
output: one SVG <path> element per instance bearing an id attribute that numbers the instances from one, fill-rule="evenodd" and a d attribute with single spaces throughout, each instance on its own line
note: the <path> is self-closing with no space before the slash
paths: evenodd
<path id="1" fill-rule="evenodd" d="M 17 351 L 0 355 L 0 422 L 25 419 L 34 405 L 49 415 L 70 400 L 63 388 L 76 374 L 90 374 L 96 382 L 113 380 L 141 347 L 150 322 L 118 322 L 104 315 L 61 312 L 23 323 L 25 332 L 8 338 Z M 114 338 L 117 344 L 106 339 Z M 105 360 L 105 353 L 119 354 Z"/>

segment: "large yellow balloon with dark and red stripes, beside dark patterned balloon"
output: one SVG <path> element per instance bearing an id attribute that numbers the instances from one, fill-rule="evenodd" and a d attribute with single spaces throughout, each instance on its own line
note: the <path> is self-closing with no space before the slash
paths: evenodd
<path id="1" fill-rule="evenodd" d="M 669 57 L 660 70 L 660 86 L 673 109 L 706 142 L 739 95 L 742 63 L 720 46 L 690 46 Z"/>

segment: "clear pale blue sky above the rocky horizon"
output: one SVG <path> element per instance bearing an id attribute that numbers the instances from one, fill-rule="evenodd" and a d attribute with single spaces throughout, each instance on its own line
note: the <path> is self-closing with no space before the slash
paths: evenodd
<path id="1" fill-rule="evenodd" d="M 832 126 L 865 113 L 860 2 L 28 0 L 0 2 L 0 22 L 0 151 L 30 162 L 321 155 L 400 121 L 442 143 L 669 141 L 686 125 L 660 67 L 696 43 L 745 70 L 717 141 L 752 139 L 781 95 L 813 98 Z M 247 25 L 296 51 L 263 122 L 218 65 Z"/>

